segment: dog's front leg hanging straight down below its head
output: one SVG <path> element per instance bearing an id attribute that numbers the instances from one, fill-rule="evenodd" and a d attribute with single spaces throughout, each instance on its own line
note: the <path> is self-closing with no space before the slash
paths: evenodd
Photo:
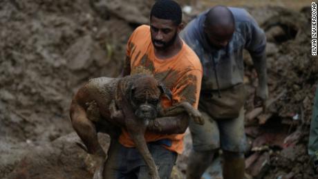
<path id="1" fill-rule="evenodd" d="M 146 131 L 147 124 L 144 121 L 136 119 L 137 121 L 127 119 L 127 131 L 131 135 L 136 149 L 140 152 L 140 155 L 146 162 L 149 168 L 149 175 L 151 179 L 160 179 L 156 163 L 153 160 L 151 153 L 147 147 L 146 140 L 144 139 L 144 131 Z M 130 122 L 129 122 L 130 121 Z"/>

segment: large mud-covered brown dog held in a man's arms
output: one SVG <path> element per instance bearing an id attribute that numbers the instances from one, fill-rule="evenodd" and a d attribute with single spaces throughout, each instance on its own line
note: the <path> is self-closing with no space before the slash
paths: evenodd
<path id="1" fill-rule="evenodd" d="M 97 140 L 97 132 L 108 133 L 111 140 L 117 140 L 120 127 L 126 127 L 136 149 L 149 167 L 151 179 L 160 179 L 156 164 L 151 157 L 144 140 L 144 132 L 149 120 L 158 115 L 169 116 L 187 113 L 196 123 L 203 124 L 203 119 L 189 103 L 182 102 L 162 110 L 160 99 L 166 95 L 171 100 L 171 92 L 150 75 L 131 75 L 122 78 L 99 77 L 91 79 L 79 88 L 71 103 L 70 116 L 73 128 L 84 145 L 82 149 L 97 158 L 94 179 L 102 179 L 106 154 Z M 126 102 L 126 104 L 122 103 Z M 120 105 L 130 105 L 136 119 L 124 119 L 124 126 L 116 121 L 123 119 Z"/>

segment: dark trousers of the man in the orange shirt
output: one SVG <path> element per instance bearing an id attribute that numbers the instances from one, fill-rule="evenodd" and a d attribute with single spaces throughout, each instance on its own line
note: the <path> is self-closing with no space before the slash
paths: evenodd
<path id="1" fill-rule="evenodd" d="M 142 156 L 135 148 L 127 148 L 122 144 L 113 148 L 105 171 L 107 179 L 149 179 L 149 171 Z M 150 142 L 148 149 L 155 160 L 161 179 L 169 179 L 176 162 L 177 153 L 165 149 L 159 142 Z"/>

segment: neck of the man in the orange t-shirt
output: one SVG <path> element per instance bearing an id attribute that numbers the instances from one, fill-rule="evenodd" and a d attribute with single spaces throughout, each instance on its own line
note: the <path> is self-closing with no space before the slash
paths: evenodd
<path id="1" fill-rule="evenodd" d="M 177 55 L 182 48 L 183 41 L 180 39 L 180 37 L 177 37 L 174 44 L 172 44 L 168 48 L 160 50 L 155 48 L 155 55 L 159 59 L 169 59 L 170 57 L 174 57 L 174 55 Z"/>

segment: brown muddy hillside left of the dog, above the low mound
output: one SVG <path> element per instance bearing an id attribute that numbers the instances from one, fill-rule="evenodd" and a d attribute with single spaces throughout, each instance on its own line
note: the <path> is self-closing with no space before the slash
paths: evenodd
<path id="1" fill-rule="evenodd" d="M 0 1 L 0 178 L 33 147 L 73 131 L 78 86 L 120 73 L 127 39 L 151 6 L 124 3 Z"/>

